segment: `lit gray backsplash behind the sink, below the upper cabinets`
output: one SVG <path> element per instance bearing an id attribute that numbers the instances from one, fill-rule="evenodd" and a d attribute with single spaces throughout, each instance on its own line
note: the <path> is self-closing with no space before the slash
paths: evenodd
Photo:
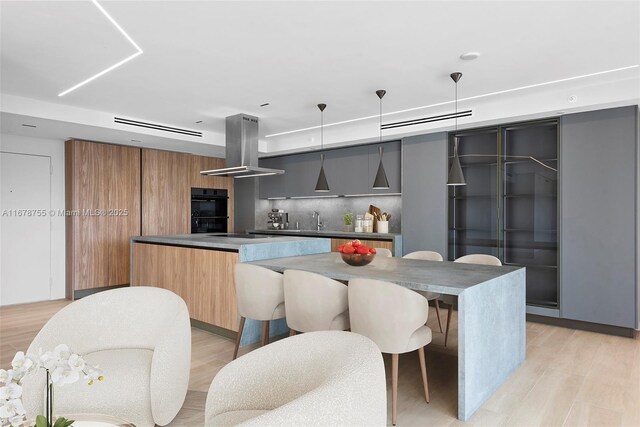
<path id="1" fill-rule="evenodd" d="M 313 211 L 320 212 L 320 219 L 324 230 L 342 230 L 342 216 L 345 212 L 352 212 L 353 217 L 364 215 L 369 205 L 380 208 L 382 212 L 391 214 L 389 233 L 401 232 L 402 196 L 362 196 L 362 197 L 328 197 L 318 199 L 287 199 L 261 201 L 256 210 L 256 228 L 267 228 L 267 213 L 271 209 L 282 209 L 289 213 L 289 228 L 296 228 L 296 221 L 301 230 L 313 230 L 316 219 Z M 267 202 L 267 203 L 264 203 Z"/>

